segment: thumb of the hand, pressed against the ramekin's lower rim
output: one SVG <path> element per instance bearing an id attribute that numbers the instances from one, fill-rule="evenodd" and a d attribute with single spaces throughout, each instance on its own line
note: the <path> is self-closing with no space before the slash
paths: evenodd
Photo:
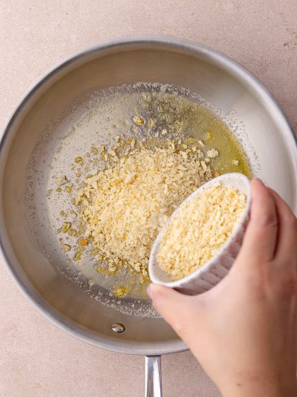
<path id="1" fill-rule="evenodd" d="M 164 318 L 182 339 L 186 338 L 188 324 L 197 312 L 197 297 L 183 295 L 173 288 L 150 284 L 147 289 L 154 309 Z"/>

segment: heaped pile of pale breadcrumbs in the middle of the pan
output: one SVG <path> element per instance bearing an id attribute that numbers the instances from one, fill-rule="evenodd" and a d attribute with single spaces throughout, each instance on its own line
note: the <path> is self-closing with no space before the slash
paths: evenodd
<path id="1" fill-rule="evenodd" d="M 158 232 L 188 195 L 213 178 L 208 163 L 218 152 L 212 149 L 205 156 L 198 147 L 202 142 L 189 146 L 170 139 L 162 147 L 136 145 L 133 139 L 129 144 L 127 156 L 115 150 L 104 154 L 112 161 L 84 180 L 75 203 L 82 205 L 77 216 L 98 250 L 96 259 L 103 259 L 110 272 L 131 266 L 148 278 Z"/>

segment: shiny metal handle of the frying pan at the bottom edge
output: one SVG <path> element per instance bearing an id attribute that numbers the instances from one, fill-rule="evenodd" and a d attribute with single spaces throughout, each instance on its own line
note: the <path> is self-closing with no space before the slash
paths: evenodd
<path id="1" fill-rule="evenodd" d="M 145 397 L 162 397 L 161 356 L 145 356 Z"/>

